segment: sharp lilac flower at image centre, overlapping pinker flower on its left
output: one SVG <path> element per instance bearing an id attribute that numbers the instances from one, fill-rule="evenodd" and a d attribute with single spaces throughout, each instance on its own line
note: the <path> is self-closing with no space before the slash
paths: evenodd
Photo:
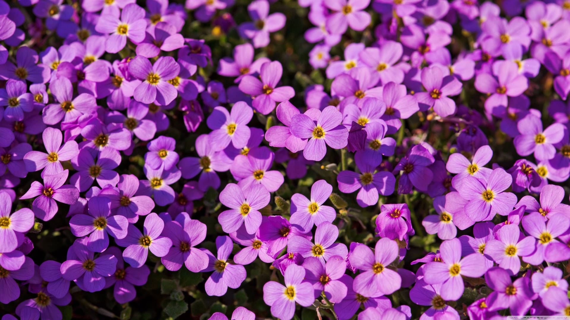
<path id="1" fill-rule="evenodd" d="M 348 129 L 341 125 L 342 114 L 335 106 L 329 105 L 315 122 L 306 114 L 296 114 L 291 118 L 291 133 L 301 139 L 309 139 L 303 156 L 308 160 L 320 161 L 327 153 L 327 145 L 333 149 L 343 149 L 348 144 Z"/>

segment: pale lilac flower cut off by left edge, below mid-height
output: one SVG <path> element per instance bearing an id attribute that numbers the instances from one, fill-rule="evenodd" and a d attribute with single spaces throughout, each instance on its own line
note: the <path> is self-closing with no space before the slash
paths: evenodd
<path id="1" fill-rule="evenodd" d="M 13 214 L 12 200 L 6 192 L 0 192 L 0 252 L 10 253 L 19 247 L 18 238 L 34 227 L 34 212 L 22 208 Z"/>

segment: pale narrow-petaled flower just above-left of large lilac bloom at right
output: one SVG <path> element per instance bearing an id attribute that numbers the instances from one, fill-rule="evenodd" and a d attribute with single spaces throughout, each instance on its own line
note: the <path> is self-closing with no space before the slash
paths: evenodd
<path id="1" fill-rule="evenodd" d="M 469 176 L 487 180 L 491 175 L 492 170 L 483 166 L 491 161 L 492 156 L 493 150 L 488 145 L 479 147 L 471 161 L 459 152 L 449 155 L 449 160 L 445 165 L 445 169 L 450 173 L 457 174 L 453 179 L 451 179 L 451 185 L 457 189 L 465 177 Z"/>

